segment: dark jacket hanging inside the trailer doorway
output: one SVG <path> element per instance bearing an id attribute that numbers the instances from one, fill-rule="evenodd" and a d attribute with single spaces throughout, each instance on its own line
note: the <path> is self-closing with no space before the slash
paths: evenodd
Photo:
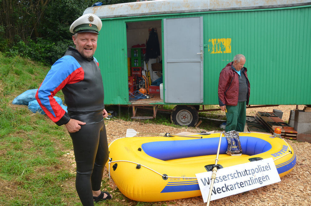
<path id="1" fill-rule="evenodd" d="M 149 59 L 156 59 L 158 56 L 160 56 L 158 33 L 154 28 L 152 28 L 146 44 L 146 54 L 144 56 L 144 60 L 145 62 L 148 62 Z"/>

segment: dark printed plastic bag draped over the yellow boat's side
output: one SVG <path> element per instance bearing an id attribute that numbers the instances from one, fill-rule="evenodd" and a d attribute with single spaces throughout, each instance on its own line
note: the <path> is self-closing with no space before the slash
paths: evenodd
<path id="1" fill-rule="evenodd" d="M 232 130 L 230 132 L 223 132 L 223 134 L 228 141 L 228 149 L 226 153 L 230 154 L 231 156 L 242 155 L 239 133 L 235 130 Z"/>

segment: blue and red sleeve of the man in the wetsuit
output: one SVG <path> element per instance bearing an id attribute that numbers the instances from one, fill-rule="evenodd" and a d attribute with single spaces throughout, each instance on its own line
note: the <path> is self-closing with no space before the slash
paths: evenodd
<path id="1" fill-rule="evenodd" d="M 81 65 L 72 56 L 63 56 L 51 67 L 50 71 L 40 85 L 36 99 L 46 115 L 58 126 L 67 124 L 70 116 L 53 98 L 55 94 L 65 87 L 83 80 L 84 71 Z"/>

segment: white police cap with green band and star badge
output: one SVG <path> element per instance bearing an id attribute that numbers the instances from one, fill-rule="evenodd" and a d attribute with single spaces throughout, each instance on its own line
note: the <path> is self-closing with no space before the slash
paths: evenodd
<path id="1" fill-rule="evenodd" d="M 78 32 L 93 32 L 99 34 L 103 23 L 95 14 L 84 14 L 74 21 L 70 26 L 70 32 L 75 34 Z"/>

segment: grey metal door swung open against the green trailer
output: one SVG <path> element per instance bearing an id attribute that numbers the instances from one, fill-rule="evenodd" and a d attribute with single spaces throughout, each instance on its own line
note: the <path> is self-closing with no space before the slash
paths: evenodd
<path id="1" fill-rule="evenodd" d="M 203 17 L 164 19 L 167 103 L 203 103 Z"/>

